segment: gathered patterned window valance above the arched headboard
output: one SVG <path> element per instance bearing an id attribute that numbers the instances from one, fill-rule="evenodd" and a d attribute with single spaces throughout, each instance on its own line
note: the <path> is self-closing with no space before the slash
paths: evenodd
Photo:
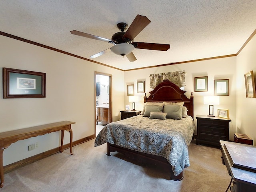
<path id="1" fill-rule="evenodd" d="M 176 71 L 168 73 L 150 74 L 150 88 L 154 89 L 158 84 L 166 79 L 176 84 L 178 87 L 186 86 L 185 71 Z"/>

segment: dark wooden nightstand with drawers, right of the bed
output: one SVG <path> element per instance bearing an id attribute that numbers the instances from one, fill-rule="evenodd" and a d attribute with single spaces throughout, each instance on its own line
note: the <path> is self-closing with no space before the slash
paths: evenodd
<path id="1" fill-rule="evenodd" d="M 231 119 L 197 115 L 196 144 L 220 146 L 220 140 L 229 141 L 229 122 Z"/>

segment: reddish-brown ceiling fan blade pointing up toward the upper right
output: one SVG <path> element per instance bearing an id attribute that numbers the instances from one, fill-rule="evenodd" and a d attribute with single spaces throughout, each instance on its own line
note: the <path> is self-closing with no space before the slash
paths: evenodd
<path id="1" fill-rule="evenodd" d="M 150 22 L 146 16 L 137 15 L 122 39 L 128 38 L 129 40 L 133 40 Z"/>

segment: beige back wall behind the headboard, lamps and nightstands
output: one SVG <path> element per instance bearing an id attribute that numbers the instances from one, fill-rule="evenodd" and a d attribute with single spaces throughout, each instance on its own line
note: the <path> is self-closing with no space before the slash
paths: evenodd
<path id="1" fill-rule="evenodd" d="M 189 98 L 191 92 L 194 95 L 194 122 L 197 123 L 196 115 L 208 115 L 208 105 L 203 104 L 204 96 L 214 95 L 214 79 L 229 79 L 229 96 L 220 96 L 220 105 L 214 106 L 214 115 L 217 114 L 218 108 L 229 109 L 230 119 L 230 140 L 234 140 L 234 132 L 236 130 L 236 57 L 219 58 L 213 60 L 205 60 L 198 62 L 190 62 L 184 64 L 176 64 L 170 66 L 162 66 L 155 68 L 147 68 L 141 70 L 126 71 L 124 77 L 124 86 L 127 84 L 134 84 L 135 95 L 140 96 L 140 102 L 136 103 L 136 109 L 143 108 L 143 93 L 137 93 L 137 81 L 145 81 L 146 95 L 149 96 L 150 74 L 182 71 L 186 72 L 186 96 Z M 194 78 L 208 76 L 208 92 L 194 92 Z M 127 90 L 124 93 L 124 106 L 132 104 L 129 103 Z M 195 130 L 196 134 L 196 130 Z"/>

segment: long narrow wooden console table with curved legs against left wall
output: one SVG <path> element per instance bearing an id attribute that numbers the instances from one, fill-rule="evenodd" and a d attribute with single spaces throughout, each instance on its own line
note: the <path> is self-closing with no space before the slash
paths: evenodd
<path id="1" fill-rule="evenodd" d="M 40 126 L 34 126 L 24 129 L 18 129 L 13 131 L 7 131 L 0 133 L 0 188 L 4 186 L 4 167 L 3 167 L 3 152 L 4 149 L 8 148 L 12 143 L 17 142 L 18 140 L 28 139 L 30 137 L 36 137 L 38 135 L 44 135 L 46 133 L 51 133 L 55 131 L 61 130 L 61 146 L 60 152 L 63 152 L 63 138 L 64 138 L 64 130 L 70 133 L 70 154 L 72 153 L 72 138 L 73 132 L 71 129 L 71 124 L 75 122 L 71 121 L 62 121 L 56 123 L 50 123 Z"/>

